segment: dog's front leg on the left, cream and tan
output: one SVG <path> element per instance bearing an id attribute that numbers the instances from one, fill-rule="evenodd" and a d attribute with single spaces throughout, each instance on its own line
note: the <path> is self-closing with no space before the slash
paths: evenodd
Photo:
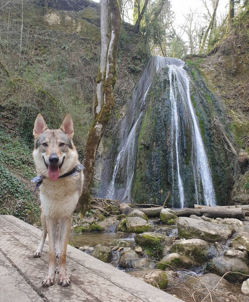
<path id="1" fill-rule="evenodd" d="M 47 231 L 49 235 L 49 271 L 48 271 L 48 276 L 42 281 L 42 285 L 50 286 L 54 284 L 55 269 L 56 269 L 55 241 L 56 241 L 57 221 L 47 218 L 46 222 L 47 222 Z"/>

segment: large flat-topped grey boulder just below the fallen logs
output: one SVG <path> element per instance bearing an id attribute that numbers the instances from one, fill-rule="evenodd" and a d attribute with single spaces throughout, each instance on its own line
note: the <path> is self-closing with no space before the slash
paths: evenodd
<path id="1" fill-rule="evenodd" d="M 180 217 L 177 222 L 180 239 L 203 239 L 208 242 L 224 241 L 230 238 L 235 230 L 226 225 Z"/>

